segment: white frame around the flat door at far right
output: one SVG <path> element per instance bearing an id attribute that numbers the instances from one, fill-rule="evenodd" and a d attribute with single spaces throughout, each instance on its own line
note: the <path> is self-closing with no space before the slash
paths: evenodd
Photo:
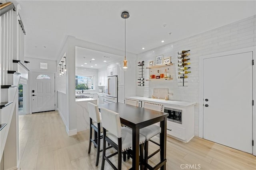
<path id="1" fill-rule="evenodd" d="M 253 60 L 254 60 L 254 66 L 252 67 L 252 75 L 253 75 L 253 82 L 252 82 L 252 98 L 254 100 L 254 106 L 252 106 L 252 140 L 254 140 L 254 146 L 252 147 L 252 154 L 256 156 L 256 113 L 255 113 L 255 105 L 256 105 L 256 46 L 254 47 L 248 47 L 244 49 L 237 49 L 233 51 L 225 51 L 221 53 L 215 53 L 210 55 L 204 55 L 199 57 L 199 137 L 204 137 L 204 106 L 203 106 L 203 100 L 204 100 L 204 59 L 214 58 L 214 57 L 221 57 L 226 55 L 233 55 L 237 53 L 246 53 L 246 52 L 252 52 Z"/>

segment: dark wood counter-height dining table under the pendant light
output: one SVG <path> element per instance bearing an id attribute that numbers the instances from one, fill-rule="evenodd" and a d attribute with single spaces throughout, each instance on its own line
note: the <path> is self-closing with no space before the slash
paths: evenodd
<path id="1" fill-rule="evenodd" d="M 100 104 L 99 108 L 106 108 L 120 114 L 122 124 L 132 129 L 132 168 L 139 169 L 139 134 L 140 129 L 154 123 L 160 122 L 160 163 L 154 168 L 166 169 L 166 119 L 168 113 L 144 109 L 123 103 Z M 111 123 L 111 122 L 110 122 Z"/>

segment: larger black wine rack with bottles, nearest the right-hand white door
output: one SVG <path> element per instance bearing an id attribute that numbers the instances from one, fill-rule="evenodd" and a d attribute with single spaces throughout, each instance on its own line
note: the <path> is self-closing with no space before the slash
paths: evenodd
<path id="1" fill-rule="evenodd" d="M 185 78 L 188 78 L 188 76 L 186 76 L 186 74 L 191 73 L 191 71 L 187 71 L 190 67 L 186 67 L 186 65 L 189 65 L 190 63 L 184 63 L 190 59 L 184 59 L 184 57 L 188 57 L 190 55 L 190 53 L 188 53 L 190 50 L 184 50 L 184 51 L 178 51 L 178 66 L 180 68 L 178 68 L 178 70 L 181 70 L 178 72 L 179 76 L 178 78 L 182 79 L 181 82 L 178 83 L 182 83 L 181 86 L 185 86 Z"/>

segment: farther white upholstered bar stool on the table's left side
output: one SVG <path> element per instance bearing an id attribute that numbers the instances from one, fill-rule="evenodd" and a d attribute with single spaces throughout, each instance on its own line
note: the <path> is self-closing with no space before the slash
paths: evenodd
<path id="1" fill-rule="evenodd" d="M 90 116 L 90 141 L 89 141 L 89 149 L 88 153 L 91 152 L 91 145 L 94 144 L 94 147 L 97 148 L 97 155 L 96 155 L 96 166 L 99 163 L 100 157 L 100 133 L 103 132 L 102 123 L 100 121 L 100 112 L 98 106 L 93 103 L 88 103 L 88 111 Z M 92 139 L 92 129 L 94 129 L 94 139 Z"/>

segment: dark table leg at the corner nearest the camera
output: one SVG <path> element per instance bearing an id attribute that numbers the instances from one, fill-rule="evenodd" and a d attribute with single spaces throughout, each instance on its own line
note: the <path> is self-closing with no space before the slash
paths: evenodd
<path id="1" fill-rule="evenodd" d="M 140 129 L 138 127 L 134 127 L 132 129 L 132 169 L 139 169 L 139 145 L 140 145 Z"/>

